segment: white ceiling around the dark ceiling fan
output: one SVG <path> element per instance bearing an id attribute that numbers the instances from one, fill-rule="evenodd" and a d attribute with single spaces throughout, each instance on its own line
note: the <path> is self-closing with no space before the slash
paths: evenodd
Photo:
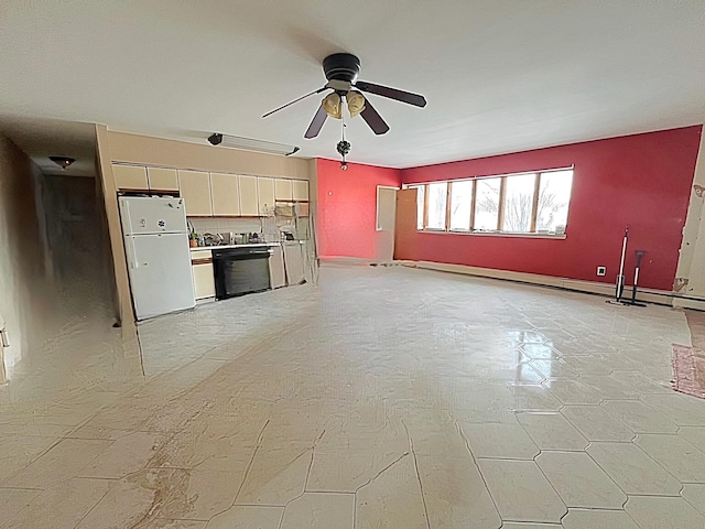
<path id="1" fill-rule="evenodd" d="M 321 61 L 423 94 L 373 97 L 391 130 L 349 160 L 413 166 L 705 121 L 703 0 L 0 0 L 0 109 L 205 141 L 214 131 L 336 158 L 303 133 Z"/>

